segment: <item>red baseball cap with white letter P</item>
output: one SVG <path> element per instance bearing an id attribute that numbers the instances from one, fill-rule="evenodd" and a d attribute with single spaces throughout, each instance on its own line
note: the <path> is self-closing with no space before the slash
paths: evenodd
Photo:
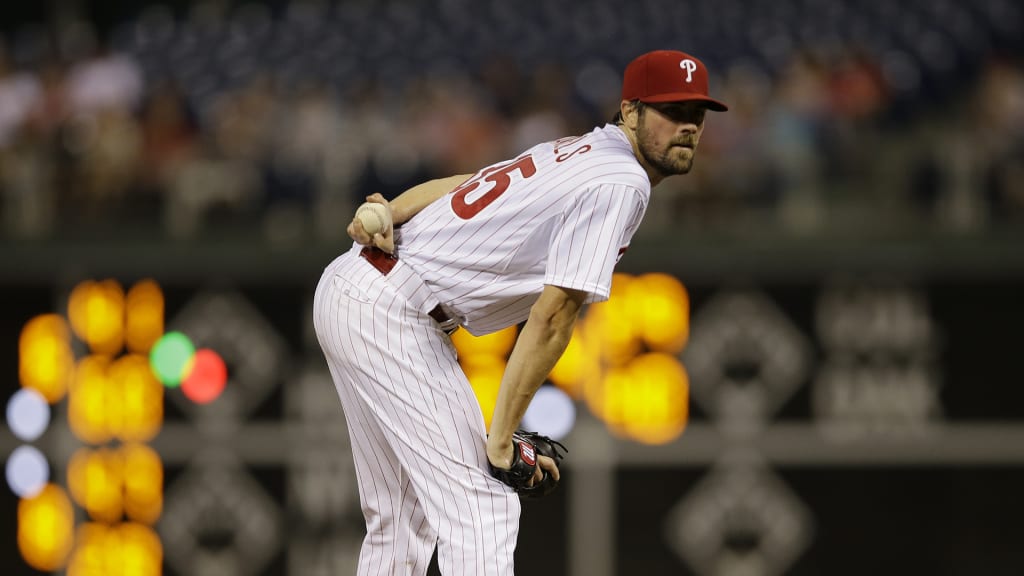
<path id="1" fill-rule="evenodd" d="M 708 69 L 697 58 L 676 50 L 654 50 L 626 67 L 623 99 L 642 102 L 700 100 L 709 110 L 729 107 L 708 95 Z"/>

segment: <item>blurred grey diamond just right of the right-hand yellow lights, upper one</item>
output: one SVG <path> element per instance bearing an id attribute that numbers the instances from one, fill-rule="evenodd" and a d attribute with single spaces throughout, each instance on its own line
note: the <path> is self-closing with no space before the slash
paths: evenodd
<path id="1" fill-rule="evenodd" d="M 726 292 L 694 316 L 683 355 L 693 400 L 729 422 L 768 420 L 804 382 L 807 337 L 760 292 Z"/>

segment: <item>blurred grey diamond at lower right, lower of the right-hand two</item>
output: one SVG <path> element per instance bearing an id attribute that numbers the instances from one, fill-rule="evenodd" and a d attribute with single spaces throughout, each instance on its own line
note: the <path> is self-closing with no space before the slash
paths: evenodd
<path id="1" fill-rule="evenodd" d="M 670 546 L 700 576 L 779 576 L 810 545 L 804 503 L 756 457 L 719 464 L 666 519 Z"/>

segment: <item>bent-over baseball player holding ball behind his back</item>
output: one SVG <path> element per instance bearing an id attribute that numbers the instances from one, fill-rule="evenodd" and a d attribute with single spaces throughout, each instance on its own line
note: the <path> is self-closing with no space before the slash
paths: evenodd
<path id="1" fill-rule="evenodd" d="M 700 60 L 648 52 L 613 123 L 368 198 L 392 225 L 353 219 L 313 303 L 366 518 L 359 575 L 425 574 L 435 546 L 443 574 L 513 573 L 519 496 L 556 485 L 560 457 L 519 420 L 581 308 L 608 298 L 651 187 L 690 170 L 708 110 L 727 109 Z M 488 436 L 449 335 L 524 321 Z"/>

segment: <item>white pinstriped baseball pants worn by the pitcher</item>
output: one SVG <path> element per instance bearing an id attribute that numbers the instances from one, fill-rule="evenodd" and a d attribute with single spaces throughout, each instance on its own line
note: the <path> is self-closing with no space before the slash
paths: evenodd
<path id="1" fill-rule="evenodd" d="M 400 263 L 399 263 L 400 265 Z M 349 251 L 313 325 L 344 408 L 367 536 L 358 576 L 513 574 L 518 496 L 486 470 L 486 433 L 451 339 Z"/>

